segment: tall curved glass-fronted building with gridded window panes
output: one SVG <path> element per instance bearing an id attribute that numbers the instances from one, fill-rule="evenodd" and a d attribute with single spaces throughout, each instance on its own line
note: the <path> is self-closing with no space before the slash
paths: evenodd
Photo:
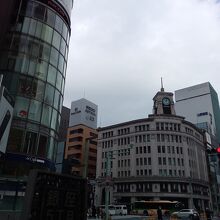
<path id="1" fill-rule="evenodd" d="M 3 39 L 0 74 L 15 99 L 4 175 L 54 168 L 73 0 L 22 0 Z"/>

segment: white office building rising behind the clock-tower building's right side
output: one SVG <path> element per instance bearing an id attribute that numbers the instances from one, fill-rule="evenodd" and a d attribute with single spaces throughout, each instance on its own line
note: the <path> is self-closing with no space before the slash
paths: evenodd
<path id="1" fill-rule="evenodd" d="M 205 129 L 220 143 L 220 109 L 218 95 L 209 82 L 175 91 L 177 115 Z"/>

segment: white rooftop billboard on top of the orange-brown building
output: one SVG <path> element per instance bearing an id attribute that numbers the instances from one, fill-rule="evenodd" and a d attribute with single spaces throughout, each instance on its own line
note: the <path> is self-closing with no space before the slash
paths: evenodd
<path id="1" fill-rule="evenodd" d="M 79 99 L 71 103 L 69 127 L 75 125 L 86 125 L 97 128 L 98 106 L 86 99 Z"/>

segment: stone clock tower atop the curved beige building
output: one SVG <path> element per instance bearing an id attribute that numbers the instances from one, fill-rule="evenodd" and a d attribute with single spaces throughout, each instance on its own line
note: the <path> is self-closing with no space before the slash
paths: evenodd
<path id="1" fill-rule="evenodd" d="M 165 92 L 162 87 L 153 98 L 153 114 L 155 115 L 176 115 L 174 109 L 173 93 Z"/>

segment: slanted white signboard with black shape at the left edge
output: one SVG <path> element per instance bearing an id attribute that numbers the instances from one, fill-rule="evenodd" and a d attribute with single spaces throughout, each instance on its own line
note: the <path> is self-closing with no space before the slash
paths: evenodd
<path id="1" fill-rule="evenodd" d="M 14 100 L 0 84 L 0 153 L 5 153 L 11 127 Z"/>

